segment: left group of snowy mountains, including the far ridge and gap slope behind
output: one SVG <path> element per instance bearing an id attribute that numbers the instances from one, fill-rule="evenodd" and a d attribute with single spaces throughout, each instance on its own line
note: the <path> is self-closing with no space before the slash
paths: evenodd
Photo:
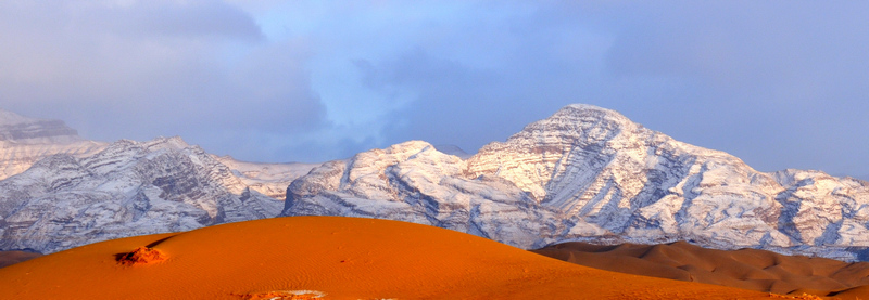
<path id="1" fill-rule="evenodd" d="M 275 217 L 284 188 L 312 167 L 217 157 L 180 138 L 99 143 L 61 121 L 0 116 L 8 158 L 0 162 L 8 172 L 0 181 L 3 250 L 47 253 Z"/>

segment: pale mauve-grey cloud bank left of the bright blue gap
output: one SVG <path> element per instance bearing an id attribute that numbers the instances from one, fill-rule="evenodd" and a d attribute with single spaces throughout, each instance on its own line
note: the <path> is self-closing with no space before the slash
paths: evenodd
<path id="1" fill-rule="evenodd" d="M 286 158 L 240 144 L 328 127 L 304 42 L 268 42 L 219 1 L 129 2 L 4 2 L 4 108 L 91 139 L 182 135 L 255 160 Z"/>

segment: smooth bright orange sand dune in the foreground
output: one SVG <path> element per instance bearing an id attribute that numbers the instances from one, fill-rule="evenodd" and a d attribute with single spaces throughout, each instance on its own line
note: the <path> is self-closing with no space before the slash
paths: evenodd
<path id="1" fill-rule="evenodd" d="M 432 226 L 341 217 L 129 237 L 0 269 L 0 299 L 769 297 L 595 270 Z"/>

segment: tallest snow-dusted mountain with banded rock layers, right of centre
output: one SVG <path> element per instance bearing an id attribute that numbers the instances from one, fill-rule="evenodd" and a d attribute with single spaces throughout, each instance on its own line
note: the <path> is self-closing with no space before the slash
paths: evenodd
<path id="1" fill-rule="evenodd" d="M 783 190 L 736 157 L 680 143 L 616 112 L 571 105 L 468 160 L 563 212 L 565 233 L 790 247 L 776 230 Z M 732 218 L 735 217 L 735 218 Z M 745 218 L 743 218 L 745 217 Z M 653 240 L 650 240 L 653 242 Z"/>

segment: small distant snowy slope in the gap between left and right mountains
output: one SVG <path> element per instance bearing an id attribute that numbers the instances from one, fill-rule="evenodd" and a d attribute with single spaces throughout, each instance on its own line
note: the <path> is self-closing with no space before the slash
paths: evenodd
<path id="1" fill-rule="evenodd" d="M 213 155 L 213 157 L 229 168 L 232 174 L 244 183 L 244 185 L 250 186 L 251 190 L 279 200 L 284 200 L 287 196 L 287 186 L 290 185 L 293 180 L 306 174 L 311 169 L 320 165 L 302 162 L 248 162 L 236 160 L 230 156 Z"/>

